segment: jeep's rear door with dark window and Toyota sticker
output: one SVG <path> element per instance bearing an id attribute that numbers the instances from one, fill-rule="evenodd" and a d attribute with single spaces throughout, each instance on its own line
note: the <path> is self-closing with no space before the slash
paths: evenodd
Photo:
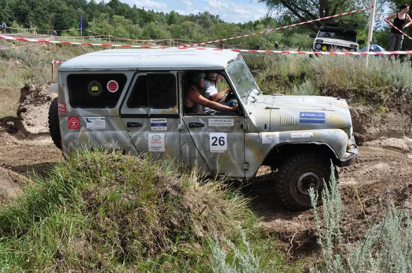
<path id="1" fill-rule="evenodd" d="M 120 117 L 138 152 L 180 159 L 176 72 L 138 72 Z"/>

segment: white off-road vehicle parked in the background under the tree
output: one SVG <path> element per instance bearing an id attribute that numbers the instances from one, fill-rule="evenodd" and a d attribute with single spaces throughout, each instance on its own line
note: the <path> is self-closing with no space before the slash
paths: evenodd
<path id="1" fill-rule="evenodd" d="M 312 51 L 359 51 L 359 45 L 365 40 L 358 40 L 356 27 L 338 22 L 324 23 L 317 34 L 311 33 Z"/>

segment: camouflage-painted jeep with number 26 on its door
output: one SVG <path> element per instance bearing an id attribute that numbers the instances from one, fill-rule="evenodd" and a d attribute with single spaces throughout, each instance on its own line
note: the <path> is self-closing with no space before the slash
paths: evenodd
<path id="1" fill-rule="evenodd" d="M 223 76 L 238 112 L 184 112 L 187 75 L 199 71 Z M 350 165 L 358 154 L 345 99 L 262 95 L 242 54 L 218 49 L 111 49 L 68 60 L 49 128 L 66 156 L 93 146 L 149 152 L 241 179 L 270 166 L 279 200 L 293 210 L 310 207 L 309 189 L 321 190 L 331 161 Z"/>

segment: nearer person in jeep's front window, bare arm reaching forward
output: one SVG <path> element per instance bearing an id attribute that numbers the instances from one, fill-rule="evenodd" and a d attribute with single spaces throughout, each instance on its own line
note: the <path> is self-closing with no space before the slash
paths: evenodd
<path id="1" fill-rule="evenodd" d="M 190 74 L 190 86 L 185 89 L 185 113 L 186 114 L 203 114 L 203 107 L 214 109 L 216 111 L 235 112 L 238 104 L 234 106 L 225 106 L 218 102 L 213 102 L 201 95 L 205 87 L 205 73 L 195 72 Z"/>

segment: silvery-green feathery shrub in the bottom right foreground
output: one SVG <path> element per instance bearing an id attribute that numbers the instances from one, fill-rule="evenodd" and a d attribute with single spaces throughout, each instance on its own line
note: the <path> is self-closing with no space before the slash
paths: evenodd
<path id="1" fill-rule="evenodd" d="M 341 234 L 343 206 L 333 171 L 329 186 L 322 191 L 323 207 L 313 210 L 323 262 L 312 272 L 412 272 L 409 215 L 388 202 L 382 206 L 383 219 L 352 246 Z M 318 196 L 313 191 L 310 194 L 312 204 L 317 204 Z"/>

